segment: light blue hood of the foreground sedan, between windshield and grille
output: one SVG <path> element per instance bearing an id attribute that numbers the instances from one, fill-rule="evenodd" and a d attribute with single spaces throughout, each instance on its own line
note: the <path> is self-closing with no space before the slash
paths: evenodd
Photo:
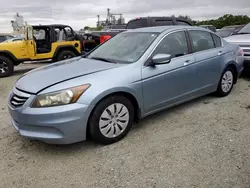
<path id="1" fill-rule="evenodd" d="M 37 94 L 57 83 L 118 66 L 122 65 L 82 57 L 72 58 L 27 72 L 17 80 L 15 87 Z"/>

